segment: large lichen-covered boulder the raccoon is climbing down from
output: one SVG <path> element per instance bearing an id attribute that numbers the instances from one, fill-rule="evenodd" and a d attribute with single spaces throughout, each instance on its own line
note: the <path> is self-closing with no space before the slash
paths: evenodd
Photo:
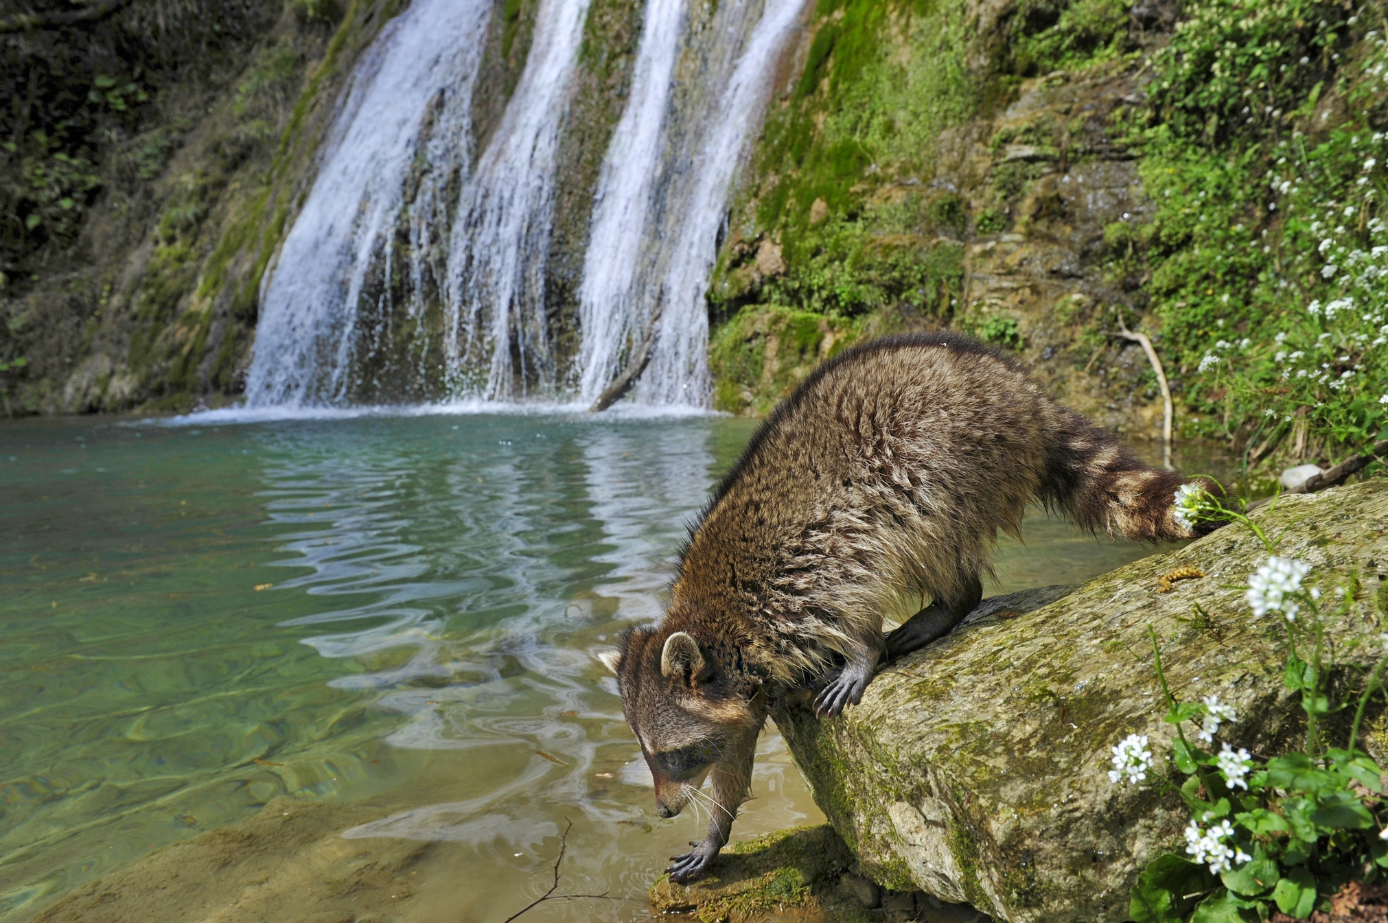
<path id="1" fill-rule="evenodd" d="M 1287 497 L 1253 518 L 1280 536 L 1280 554 L 1313 565 L 1309 580 L 1327 600 L 1342 584 L 1353 594 L 1330 627 L 1338 662 L 1376 661 L 1388 480 Z M 1160 762 L 1137 787 L 1106 773 L 1124 736 L 1148 734 L 1158 755 L 1173 736 L 1148 626 L 1177 698 L 1213 694 L 1237 706 L 1217 741 L 1267 756 L 1305 731 L 1281 683 L 1284 625 L 1255 619 L 1242 597 L 1264 557 L 1256 537 L 1230 526 L 1073 590 L 988 600 L 940 643 L 884 669 L 843 718 L 818 720 L 798 702 L 773 718 L 856 867 L 877 884 L 1016 923 L 1122 923 L 1137 874 L 1181 841 L 1187 820 L 1163 794 Z M 1373 729 L 1367 743 L 1380 755 L 1381 713 Z M 1344 730 L 1327 734 L 1342 743 Z"/>

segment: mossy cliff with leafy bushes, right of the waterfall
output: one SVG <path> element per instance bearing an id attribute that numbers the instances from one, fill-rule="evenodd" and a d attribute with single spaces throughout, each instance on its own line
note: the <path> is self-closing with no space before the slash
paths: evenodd
<path id="1" fill-rule="evenodd" d="M 1249 464 L 1355 452 L 1388 423 L 1382 24 L 1374 1 L 818 0 L 709 291 L 716 405 L 952 326 L 1155 436 L 1123 321 L 1178 433 Z"/>

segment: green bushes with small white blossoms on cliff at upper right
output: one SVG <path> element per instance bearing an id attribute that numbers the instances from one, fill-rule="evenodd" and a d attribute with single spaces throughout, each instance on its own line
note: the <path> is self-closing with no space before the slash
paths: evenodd
<path id="1" fill-rule="evenodd" d="M 1145 149 L 1158 205 L 1151 225 L 1108 229 L 1112 275 L 1151 272 L 1191 434 L 1271 458 L 1298 432 L 1334 457 L 1388 423 L 1388 142 L 1374 128 L 1388 43 L 1366 10 L 1191 4 L 1152 56 L 1151 124 L 1133 110 L 1110 122 Z"/>

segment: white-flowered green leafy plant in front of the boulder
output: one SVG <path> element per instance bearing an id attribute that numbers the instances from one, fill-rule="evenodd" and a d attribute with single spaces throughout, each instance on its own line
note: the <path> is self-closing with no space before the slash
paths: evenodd
<path id="1" fill-rule="evenodd" d="M 1385 776 L 1357 748 L 1359 729 L 1370 697 L 1381 687 L 1384 658 L 1357 700 L 1344 747 L 1327 747 L 1323 720 L 1348 702 L 1332 702 L 1328 683 L 1326 626 L 1353 605 L 1355 587 L 1341 586 L 1327 597 L 1307 583 L 1306 562 L 1281 558 L 1245 511 L 1216 501 L 1192 486 L 1177 494 L 1177 515 L 1187 523 L 1233 520 L 1251 529 L 1269 557 L 1249 575 L 1245 598 L 1260 618 L 1281 616 L 1285 627 L 1285 687 L 1301 695 L 1306 715 L 1302 750 L 1267 761 L 1221 743 L 1220 729 L 1237 720 L 1235 711 L 1206 697 L 1177 701 L 1166 683 L 1156 633 L 1149 627 L 1156 679 L 1176 726 L 1166 780 L 1191 812 L 1185 827 L 1190 859 L 1165 854 L 1153 859 L 1131 892 L 1135 923 L 1234 923 L 1266 920 L 1274 911 L 1305 919 L 1328 909 L 1328 898 L 1349 881 L 1388 876 L 1388 795 Z M 1378 602 L 1382 609 L 1382 602 Z M 1388 611 L 1382 612 L 1388 615 Z M 1191 736 L 1187 736 L 1187 727 Z M 1192 741 L 1194 737 L 1194 741 Z M 1148 738 L 1130 734 L 1113 748 L 1115 784 L 1138 784 L 1153 768 Z M 1382 819 L 1381 819 L 1382 818 Z"/>

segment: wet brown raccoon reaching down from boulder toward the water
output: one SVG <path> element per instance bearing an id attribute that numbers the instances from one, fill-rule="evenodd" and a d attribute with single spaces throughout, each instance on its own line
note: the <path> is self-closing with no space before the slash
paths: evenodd
<path id="1" fill-rule="evenodd" d="M 663 620 L 598 654 L 657 813 L 691 799 L 711 812 L 670 877 L 695 877 L 727 842 L 773 697 L 818 688 L 822 719 L 856 705 L 879 663 L 979 604 L 997 532 L 1017 534 L 1027 504 L 1110 536 L 1190 539 L 1171 508 L 1183 483 L 969 337 L 887 337 L 820 365 L 718 486 Z M 883 636 L 886 615 L 926 600 Z"/>

